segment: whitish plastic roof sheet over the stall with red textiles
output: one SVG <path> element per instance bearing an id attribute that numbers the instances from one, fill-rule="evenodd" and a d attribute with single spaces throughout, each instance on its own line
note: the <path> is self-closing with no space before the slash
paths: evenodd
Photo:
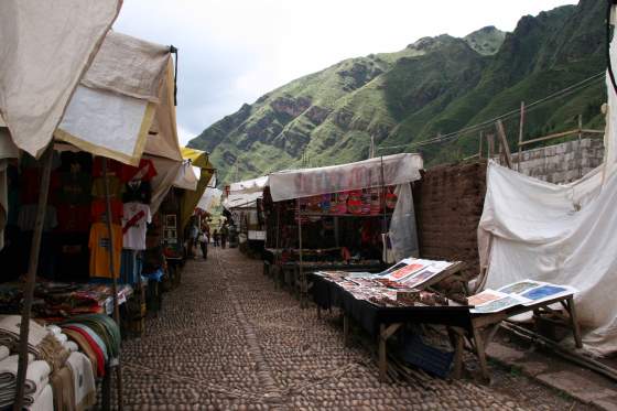
<path id="1" fill-rule="evenodd" d="M 342 165 L 281 171 L 270 174 L 269 185 L 272 199 L 280 202 L 410 183 L 420 180 L 422 167 L 420 154 L 402 153 Z"/>

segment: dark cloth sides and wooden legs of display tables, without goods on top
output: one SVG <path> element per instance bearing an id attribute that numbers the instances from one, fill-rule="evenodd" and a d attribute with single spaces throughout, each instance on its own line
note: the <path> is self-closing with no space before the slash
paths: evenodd
<path id="1" fill-rule="evenodd" d="M 362 329 L 372 336 L 377 336 L 379 378 L 386 380 L 387 376 L 387 343 L 388 339 L 404 324 L 436 324 L 444 325 L 448 331 L 454 347 L 453 377 L 461 378 L 463 369 L 463 350 L 467 339 L 478 358 L 479 371 L 485 380 L 489 379 L 488 365 L 486 360 L 486 347 L 495 336 L 501 321 L 515 315 L 534 313 L 555 314 L 550 306 L 561 304 L 567 313 L 566 320 L 572 328 L 576 346 L 581 347 L 581 332 L 576 321 L 576 311 L 572 295 L 559 296 L 533 305 L 512 306 L 501 312 L 474 314 L 472 306 L 458 305 L 413 305 L 382 307 L 366 300 L 356 299 L 349 291 L 338 283 L 311 273 L 308 280 L 313 301 L 317 305 L 317 315 L 321 310 L 339 307 L 343 311 L 343 328 L 345 344 L 349 336 L 349 322 L 354 320 Z"/>

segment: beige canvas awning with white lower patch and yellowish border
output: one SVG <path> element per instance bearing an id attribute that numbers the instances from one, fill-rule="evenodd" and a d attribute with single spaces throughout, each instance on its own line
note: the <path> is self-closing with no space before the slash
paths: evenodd
<path id="1" fill-rule="evenodd" d="M 181 161 L 175 111 L 173 116 L 162 111 L 162 107 L 171 109 L 171 67 L 169 47 L 109 32 L 55 136 L 90 153 L 137 165 L 159 113 L 158 125 L 169 126 L 173 118 L 173 131 L 164 127 L 161 136 L 153 134 L 158 144 L 151 144 L 145 152 Z M 163 143 L 166 139 L 173 141 Z"/>

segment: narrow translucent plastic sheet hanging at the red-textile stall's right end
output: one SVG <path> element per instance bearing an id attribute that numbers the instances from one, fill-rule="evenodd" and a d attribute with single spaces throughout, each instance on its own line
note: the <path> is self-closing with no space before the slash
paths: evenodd
<path id="1" fill-rule="evenodd" d="M 394 194 L 398 201 L 390 221 L 389 237 L 393 257 L 399 261 L 409 257 L 419 257 L 420 249 L 411 185 L 409 183 L 398 185 Z"/>

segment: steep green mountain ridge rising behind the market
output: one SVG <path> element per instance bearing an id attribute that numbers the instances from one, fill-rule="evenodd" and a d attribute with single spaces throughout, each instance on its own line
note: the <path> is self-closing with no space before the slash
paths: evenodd
<path id="1" fill-rule="evenodd" d="M 349 58 L 295 79 L 243 105 L 204 130 L 190 147 L 206 150 L 224 182 L 302 165 L 419 151 L 427 164 L 478 150 L 479 131 L 447 143 L 418 142 L 447 134 L 518 109 L 605 68 L 604 3 L 581 0 L 537 17 L 523 17 L 512 33 L 494 26 L 464 39 L 420 39 L 397 53 Z M 534 106 L 526 138 L 564 130 L 583 115 L 600 127 L 605 86 Z M 512 143 L 518 116 L 505 121 Z M 513 149 L 512 144 L 512 149 Z"/>

